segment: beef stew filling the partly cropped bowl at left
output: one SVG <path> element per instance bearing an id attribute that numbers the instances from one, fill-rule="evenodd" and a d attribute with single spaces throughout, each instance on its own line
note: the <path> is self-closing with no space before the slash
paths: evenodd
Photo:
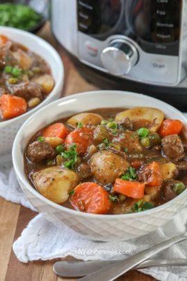
<path id="1" fill-rule="evenodd" d="M 53 87 L 51 69 L 43 58 L 0 35 L 0 121 L 35 108 Z"/>

